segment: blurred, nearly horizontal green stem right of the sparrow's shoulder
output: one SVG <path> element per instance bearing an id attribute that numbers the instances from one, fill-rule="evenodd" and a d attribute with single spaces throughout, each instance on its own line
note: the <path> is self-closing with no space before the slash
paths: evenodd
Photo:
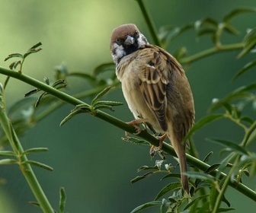
<path id="1" fill-rule="evenodd" d="M 244 43 L 232 43 L 232 44 L 226 44 L 218 47 L 213 47 L 210 49 L 206 49 L 202 52 L 198 52 L 192 56 L 185 57 L 180 60 L 181 64 L 190 64 L 192 62 L 195 62 L 199 59 L 203 59 L 206 56 L 211 56 L 213 54 L 216 54 L 218 52 L 226 52 L 230 50 L 236 50 L 236 49 L 242 49 L 244 47 Z"/>

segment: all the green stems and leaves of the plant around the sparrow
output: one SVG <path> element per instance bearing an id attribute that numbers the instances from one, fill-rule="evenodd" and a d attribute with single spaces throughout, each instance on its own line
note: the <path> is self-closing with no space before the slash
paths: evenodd
<path id="1" fill-rule="evenodd" d="M 203 17 L 194 23 L 185 24 L 183 27 L 165 26 L 160 28 L 157 34 L 145 5 L 142 1 L 138 0 L 137 2 L 139 3 L 143 16 L 146 18 L 146 23 L 148 24 L 150 33 L 152 33 L 153 40 L 155 44 L 159 46 L 168 46 L 168 43 L 174 40 L 174 38 L 181 36 L 181 34 L 187 30 L 194 30 L 197 37 L 207 35 L 212 38 L 213 48 L 198 52 L 194 56 L 186 56 L 187 49 L 185 47 L 178 49 L 175 56 L 181 60 L 181 62 L 191 63 L 222 51 L 239 50 L 238 59 L 252 55 L 255 52 L 255 28 L 243 33 L 245 36 L 241 43 L 223 44 L 221 41 L 224 33 L 226 33 L 226 36 L 238 34 L 239 31 L 231 23 L 233 18 L 240 14 L 255 12 L 255 8 L 235 8 L 222 17 L 221 21 L 217 21 L 213 17 Z M 24 150 L 18 136 L 24 134 L 27 129 L 46 118 L 64 103 L 71 103 L 75 106 L 75 109 L 72 110 L 66 118 L 62 119 L 60 126 L 79 113 L 89 113 L 125 131 L 134 133 L 134 129 L 125 122 L 101 111 L 106 109 L 113 111 L 114 106 L 120 106 L 122 104 L 113 100 L 102 100 L 103 97 L 107 96 L 110 89 L 118 84 L 114 75 L 114 64 L 112 62 L 99 65 L 94 68 L 92 74 L 69 72 L 66 65 L 61 64 L 55 68 L 56 79 L 54 79 L 53 83 L 51 83 L 49 78 L 44 78 L 44 82 L 40 82 L 34 78 L 27 77 L 27 75 L 21 72 L 27 56 L 39 52 L 41 50 L 38 48 L 39 46 L 41 46 L 41 43 L 32 46 L 24 54 L 10 54 L 5 60 L 12 58 L 18 58 L 19 60 L 12 62 L 9 66 L 10 69 L 0 68 L 0 73 L 8 76 L 4 87 L 2 87 L 2 85 L 0 87 L 1 145 L 2 149 L 8 147 L 6 146 L 7 143 L 11 145 L 11 150 L 0 151 L 0 157 L 2 157 L 0 164 L 18 164 L 37 199 L 37 202 L 31 203 L 42 208 L 45 212 L 56 212 L 53 211 L 50 202 L 44 195 L 43 189 L 41 189 L 31 166 L 50 171 L 53 170 L 53 168 L 41 162 L 29 160 L 27 157 L 30 157 L 30 154 L 48 151 L 48 149 L 28 148 Z M 20 68 L 18 72 L 16 72 L 14 69 L 18 68 L 18 65 L 20 65 Z M 238 70 L 233 80 L 245 75 L 249 70 L 254 70 L 255 65 L 255 60 L 247 62 Z M 108 73 L 109 71 L 111 71 L 110 74 Z M 107 74 L 107 77 L 102 77 L 102 73 Z M 66 94 L 65 89 L 67 86 L 67 78 L 69 77 L 85 79 L 85 81 L 91 85 L 91 89 L 83 93 L 73 94 L 72 96 Z M 14 106 L 11 106 L 8 113 L 6 113 L 4 90 L 5 87 L 7 87 L 9 78 L 17 78 L 35 88 L 24 95 L 26 97 L 24 100 L 14 103 Z M 63 91 L 60 91 L 60 89 L 63 89 Z M 218 122 L 219 119 L 226 119 L 233 122 L 244 132 L 241 141 L 229 141 L 229 139 L 223 138 L 207 139 L 216 145 L 224 147 L 221 151 L 223 158 L 216 164 L 206 164 L 210 157 L 212 157 L 213 152 L 207 154 L 203 161 L 196 158 L 196 151 L 192 150 L 190 155 L 187 154 L 187 161 L 191 170 L 185 173 L 185 175 L 189 178 L 190 195 L 184 195 L 181 189 L 181 175 L 174 173 L 176 165 L 172 165 L 166 160 L 165 156 L 170 154 L 175 157 L 175 154 L 171 146 L 164 143 L 162 151 L 158 152 L 162 159 L 156 160 L 154 166 L 139 167 L 138 172 L 143 172 L 143 174 L 136 176 L 131 180 L 131 183 L 146 180 L 153 175 L 162 175 L 161 180 L 168 180 L 168 184 L 162 189 L 159 189 L 156 196 L 152 196 L 151 202 L 139 205 L 131 212 L 140 212 L 148 208 L 158 208 L 159 212 L 232 211 L 234 210 L 232 203 L 229 203 L 228 198 L 226 198 L 226 189 L 229 186 L 242 192 L 248 199 L 255 201 L 256 193 L 243 183 L 244 176 L 251 177 L 254 176 L 256 172 L 256 153 L 251 151 L 249 147 L 251 143 L 256 141 L 256 118 L 254 114 L 251 115 L 248 113 L 248 109 L 252 112 L 256 110 L 255 92 L 256 84 L 254 82 L 248 82 L 248 84 L 242 85 L 235 91 L 226 94 L 226 97 L 220 99 L 213 98 L 209 114 L 199 119 L 184 138 L 186 141 L 191 139 L 194 134 L 203 131 L 206 125 Z M 88 104 L 80 100 L 84 97 L 90 97 L 91 103 Z M 216 111 L 218 112 L 216 113 Z M 123 140 L 136 145 L 155 145 L 155 141 L 158 141 L 157 138 L 146 132 L 146 129 L 139 133 L 138 136 L 140 138 L 129 137 L 123 138 Z M 172 181 L 173 179 L 175 180 L 174 182 Z M 65 204 L 66 192 L 64 188 L 60 188 L 59 212 L 65 212 Z M 223 208 L 223 206 L 225 206 L 225 208 Z"/>

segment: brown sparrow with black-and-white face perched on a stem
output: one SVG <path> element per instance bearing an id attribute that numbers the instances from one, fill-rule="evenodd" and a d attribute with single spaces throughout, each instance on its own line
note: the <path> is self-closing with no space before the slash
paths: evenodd
<path id="1" fill-rule="evenodd" d="M 152 45 L 135 24 L 115 28 L 110 53 L 123 96 L 138 128 L 148 122 L 162 141 L 168 137 L 178 156 L 181 186 L 189 195 L 185 135 L 195 118 L 194 98 L 181 64 L 169 52 Z M 160 143 L 159 143 L 160 144 Z"/>

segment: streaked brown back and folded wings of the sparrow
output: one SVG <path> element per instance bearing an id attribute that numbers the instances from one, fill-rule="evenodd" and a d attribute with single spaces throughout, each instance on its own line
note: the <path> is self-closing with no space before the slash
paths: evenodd
<path id="1" fill-rule="evenodd" d="M 139 57 L 140 91 L 162 130 L 171 123 L 178 140 L 194 122 L 194 101 L 183 68 L 164 49 L 147 45 Z"/>

